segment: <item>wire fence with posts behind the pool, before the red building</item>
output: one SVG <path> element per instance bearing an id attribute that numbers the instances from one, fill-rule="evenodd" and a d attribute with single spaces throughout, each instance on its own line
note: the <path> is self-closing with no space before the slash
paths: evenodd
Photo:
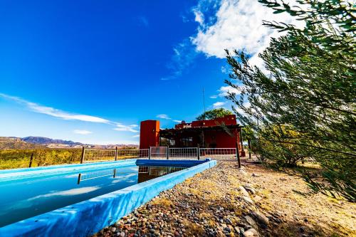
<path id="1" fill-rule="evenodd" d="M 236 148 L 150 147 L 150 149 L 84 149 L 81 163 L 118 159 L 238 159 Z"/>

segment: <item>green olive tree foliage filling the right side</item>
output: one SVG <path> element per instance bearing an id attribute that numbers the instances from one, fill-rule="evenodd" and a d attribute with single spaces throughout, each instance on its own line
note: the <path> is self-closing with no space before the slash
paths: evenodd
<path id="1" fill-rule="evenodd" d="M 258 55 L 262 68 L 244 52 L 226 51 L 226 83 L 241 90 L 227 98 L 239 107 L 234 110 L 242 125 L 253 130 L 263 159 L 281 166 L 315 161 L 319 172 L 303 174 L 313 191 L 356 201 L 355 7 L 337 0 L 300 0 L 300 7 L 259 1 L 305 27 L 263 22 L 283 36 Z"/>

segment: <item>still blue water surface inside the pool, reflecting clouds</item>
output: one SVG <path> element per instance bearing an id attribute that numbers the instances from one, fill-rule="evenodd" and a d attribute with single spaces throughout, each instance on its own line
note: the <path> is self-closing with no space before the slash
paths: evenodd
<path id="1" fill-rule="evenodd" d="M 132 162 L 0 173 L 0 227 L 182 170 Z"/>

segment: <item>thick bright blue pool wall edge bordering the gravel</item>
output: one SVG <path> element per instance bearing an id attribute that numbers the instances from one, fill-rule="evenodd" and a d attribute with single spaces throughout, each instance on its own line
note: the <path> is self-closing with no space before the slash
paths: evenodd
<path id="1" fill-rule="evenodd" d="M 177 161 L 165 162 L 172 164 Z M 150 201 L 159 192 L 171 189 L 174 185 L 215 165 L 215 160 L 206 159 L 202 164 L 179 172 L 33 216 L 0 228 L 0 236 L 92 236 Z"/>

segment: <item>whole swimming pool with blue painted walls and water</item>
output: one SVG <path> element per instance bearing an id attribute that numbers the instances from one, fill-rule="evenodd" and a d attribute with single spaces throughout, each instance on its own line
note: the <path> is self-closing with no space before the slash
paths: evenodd
<path id="1" fill-rule="evenodd" d="M 215 164 L 131 159 L 0 171 L 0 236 L 90 236 Z"/>

